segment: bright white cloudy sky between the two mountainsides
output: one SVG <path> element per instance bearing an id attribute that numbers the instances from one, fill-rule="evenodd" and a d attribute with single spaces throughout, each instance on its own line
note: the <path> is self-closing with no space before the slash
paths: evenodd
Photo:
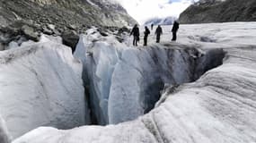
<path id="1" fill-rule="evenodd" d="M 193 0 L 116 0 L 140 24 L 146 20 L 168 16 L 179 17 Z M 197 0 L 196 0 L 197 1 Z"/>

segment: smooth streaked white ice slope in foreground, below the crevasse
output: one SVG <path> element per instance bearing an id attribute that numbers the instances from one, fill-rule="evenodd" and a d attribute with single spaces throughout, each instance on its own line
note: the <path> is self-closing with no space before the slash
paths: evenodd
<path id="1" fill-rule="evenodd" d="M 225 49 L 223 65 L 165 90 L 149 114 L 118 125 L 39 128 L 13 143 L 249 143 L 256 141 L 256 46 Z"/>

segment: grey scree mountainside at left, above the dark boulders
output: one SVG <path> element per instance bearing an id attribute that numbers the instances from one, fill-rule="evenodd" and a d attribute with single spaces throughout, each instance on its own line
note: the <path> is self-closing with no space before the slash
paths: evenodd
<path id="1" fill-rule="evenodd" d="M 117 26 L 133 24 L 126 10 L 104 0 L 0 0 L 0 24 L 23 20 L 37 24 Z"/>

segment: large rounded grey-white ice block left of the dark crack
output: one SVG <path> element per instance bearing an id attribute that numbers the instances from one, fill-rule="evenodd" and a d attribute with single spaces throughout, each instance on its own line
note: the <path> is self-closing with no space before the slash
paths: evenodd
<path id="1" fill-rule="evenodd" d="M 39 126 L 70 129 L 87 122 L 82 63 L 69 47 L 40 42 L 0 57 L 0 113 L 13 139 Z"/>

